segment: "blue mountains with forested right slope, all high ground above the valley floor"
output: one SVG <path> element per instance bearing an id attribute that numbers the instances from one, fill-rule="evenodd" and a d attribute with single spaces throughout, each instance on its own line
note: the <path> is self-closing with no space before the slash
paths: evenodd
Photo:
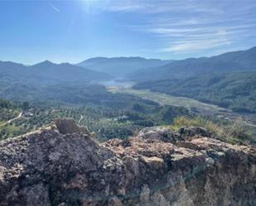
<path id="1" fill-rule="evenodd" d="M 76 65 L 49 60 L 36 65 L 0 61 L 0 97 L 29 98 L 42 91 L 51 93 L 55 88 L 84 88 L 123 77 L 142 83 L 134 89 L 151 89 L 256 112 L 255 71 L 256 47 L 186 60 L 97 57 Z"/>

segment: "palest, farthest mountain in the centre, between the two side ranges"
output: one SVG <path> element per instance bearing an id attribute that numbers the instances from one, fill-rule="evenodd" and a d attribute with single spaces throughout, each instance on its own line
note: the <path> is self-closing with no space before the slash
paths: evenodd
<path id="1" fill-rule="evenodd" d="M 145 59 L 142 57 L 96 57 L 80 62 L 79 66 L 106 72 L 115 77 L 123 77 L 140 69 L 150 69 L 157 66 L 167 65 L 172 60 Z"/>

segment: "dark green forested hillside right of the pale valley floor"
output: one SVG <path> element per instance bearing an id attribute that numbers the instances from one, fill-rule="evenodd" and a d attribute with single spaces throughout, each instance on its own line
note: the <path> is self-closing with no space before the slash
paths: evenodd
<path id="1" fill-rule="evenodd" d="M 234 112 L 256 112 L 256 72 L 199 74 L 185 80 L 157 80 L 136 84 L 133 89 L 151 89 L 155 92 L 195 98 L 215 103 Z"/>

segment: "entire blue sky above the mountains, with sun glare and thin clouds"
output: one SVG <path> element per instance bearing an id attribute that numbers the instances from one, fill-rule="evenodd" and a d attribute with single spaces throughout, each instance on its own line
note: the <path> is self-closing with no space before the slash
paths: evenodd
<path id="1" fill-rule="evenodd" d="M 0 60 L 164 60 L 256 46 L 256 0 L 0 0 Z"/>

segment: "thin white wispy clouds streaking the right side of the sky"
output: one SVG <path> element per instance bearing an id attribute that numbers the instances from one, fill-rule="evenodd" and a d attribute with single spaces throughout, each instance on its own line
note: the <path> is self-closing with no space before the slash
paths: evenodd
<path id="1" fill-rule="evenodd" d="M 156 38 L 157 52 L 234 48 L 256 33 L 255 0 L 106 0 L 101 9 L 138 14 L 127 26 Z"/>

